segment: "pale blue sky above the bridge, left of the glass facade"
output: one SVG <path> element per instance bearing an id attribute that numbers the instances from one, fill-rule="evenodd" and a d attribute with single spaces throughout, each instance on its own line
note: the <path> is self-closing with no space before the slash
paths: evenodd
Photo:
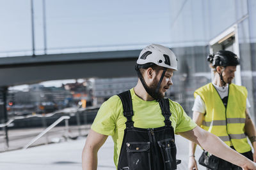
<path id="1" fill-rule="evenodd" d="M 43 1 L 33 1 L 36 53 L 44 52 Z M 170 1 L 45 0 L 48 53 L 170 42 Z M 31 1 L 0 1 L 0 53 L 30 55 Z M 10 53 L 12 52 L 12 53 Z M 23 53 L 17 53 L 23 52 Z M 4 53 L 4 54 L 3 54 Z"/>

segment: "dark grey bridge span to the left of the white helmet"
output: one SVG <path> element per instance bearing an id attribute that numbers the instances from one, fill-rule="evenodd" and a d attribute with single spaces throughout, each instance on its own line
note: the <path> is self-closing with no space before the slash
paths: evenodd
<path id="1" fill-rule="evenodd" d="M 0 58 L 0 86 L 72 78 L 136 76 L 140 50 Z"/>

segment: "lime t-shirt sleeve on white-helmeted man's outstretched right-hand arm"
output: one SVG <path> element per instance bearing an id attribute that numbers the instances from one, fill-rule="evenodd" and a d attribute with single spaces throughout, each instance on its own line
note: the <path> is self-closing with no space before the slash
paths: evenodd
<path id="1" fill-rule="evenodd" d="M 186 132 L 196 127 L 195 122 L 185 113 L 182 106 L 177 107 L 177 125 L 175 133 Z"/>

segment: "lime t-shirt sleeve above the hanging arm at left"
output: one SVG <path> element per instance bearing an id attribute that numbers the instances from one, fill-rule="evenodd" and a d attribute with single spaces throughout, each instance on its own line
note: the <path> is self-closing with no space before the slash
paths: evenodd
<path id="1" fill-rule="evenodd" d="M 108 136 L 113 136 L 115 133 L 116 125 L 116 104 L 120 103 L 118 101 L 118 96 L 113 96 L 104 102 L 93 121 L 91 129 L 99 134 L 104 134 Z"/>

